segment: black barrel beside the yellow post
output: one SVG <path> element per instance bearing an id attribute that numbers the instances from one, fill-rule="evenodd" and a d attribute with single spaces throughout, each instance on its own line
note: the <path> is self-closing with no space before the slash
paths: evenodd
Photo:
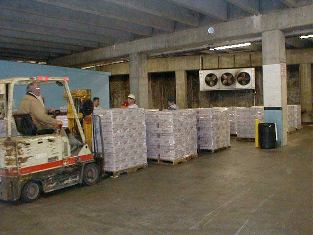
<path id="1" fill-rule="evenodd" d="M 259 123 L 259 146 L 264 149 L 276 148 L 275 123 Z"/>

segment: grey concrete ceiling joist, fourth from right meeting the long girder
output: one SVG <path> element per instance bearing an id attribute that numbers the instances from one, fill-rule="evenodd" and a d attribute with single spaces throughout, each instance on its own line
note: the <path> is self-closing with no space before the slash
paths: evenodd
<path id="1" fill-rule="evenodd" d="M 199 26 L 199 12 L 165 0 L 104 0 L 152 15 L 193 26 Z"/>

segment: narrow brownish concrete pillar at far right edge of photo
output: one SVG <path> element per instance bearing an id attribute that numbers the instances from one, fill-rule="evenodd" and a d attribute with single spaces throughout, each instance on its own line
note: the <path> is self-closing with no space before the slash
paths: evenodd
<path id="1" fill-rule="evenodd" d="M 311 64 L 300 64 L 302 122 L 313 122 Z"/>

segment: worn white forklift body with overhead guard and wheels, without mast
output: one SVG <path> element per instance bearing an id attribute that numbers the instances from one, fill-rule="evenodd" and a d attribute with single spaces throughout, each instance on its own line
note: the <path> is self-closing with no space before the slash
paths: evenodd
<path id="1" fill-rule="evenodd" d="M 0 80 L 8 85 L 6 110 L 6 137 L 0 138 L 0 199 L 26 202 L 36 200 L 40 192 L 49 192 L 71 185 L 92 185 L 100 177 L 101 168 L 95 161 L 83 132 L 73 98 L 63 77 L 18 77 Z M 27 85 L 59 82 L 65 86 L 71 108 L 72 125 L 82 145 L 71 152 L 69 139 L 58 134 L 12 136 L 13 89 L 17 84 Z M 101 155 L 101 154 L 100 154 Z M 99 154 L 97 154 L 99 158 Z M 39 195 L 37 195 L 39 194 Z"/>

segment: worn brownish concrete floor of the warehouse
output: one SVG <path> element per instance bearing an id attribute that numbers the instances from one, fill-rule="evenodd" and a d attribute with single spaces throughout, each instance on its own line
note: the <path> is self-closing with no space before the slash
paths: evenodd
<path id="1" fill-rule="evenodd" d="M 231 144 L 31 204 L 0 201 L 0 234 L 312 235 L 313 127 L 279 149 Z"/>

